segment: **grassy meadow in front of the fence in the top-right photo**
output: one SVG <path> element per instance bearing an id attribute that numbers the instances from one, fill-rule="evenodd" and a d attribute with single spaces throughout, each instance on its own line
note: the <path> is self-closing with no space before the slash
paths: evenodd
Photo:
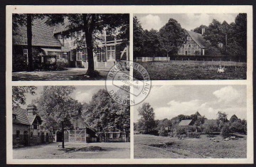
<path id="1" fill-rule="evenodd" d="M 216 61 L 140 62 L 149 72 L 151 80 L 246 80 L 246 63 Z M 219 65 L 225 72 L 217 72 Z M 134 77 L 143 80 L 134 70 Z"/>

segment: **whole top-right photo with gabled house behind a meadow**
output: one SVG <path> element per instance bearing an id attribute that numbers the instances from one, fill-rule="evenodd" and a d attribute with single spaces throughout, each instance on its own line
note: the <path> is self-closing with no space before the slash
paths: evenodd
<path id="1" fill-rule="evenodd" d="M 151 80 L 247 79 L 247 14 L 134 14 L 133 43 Z"/>

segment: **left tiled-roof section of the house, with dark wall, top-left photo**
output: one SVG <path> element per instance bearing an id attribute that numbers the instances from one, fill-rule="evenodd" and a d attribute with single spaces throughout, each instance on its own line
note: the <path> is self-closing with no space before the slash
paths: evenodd
<path id="1" fill-rule="evenodd" d="M 46 18 L 36 19 L 32 26 L 33 67 L 48 68 L 55 63 L 61 52 L 61 43 L 53 36 L 53 27 L 45 24 Z M 28 43 L 26 26 L 19 26 L 13 33 L 13 70 L 26 70 L 28 65 Z M 43 67 L 46 65 L 46 67 Z"/>

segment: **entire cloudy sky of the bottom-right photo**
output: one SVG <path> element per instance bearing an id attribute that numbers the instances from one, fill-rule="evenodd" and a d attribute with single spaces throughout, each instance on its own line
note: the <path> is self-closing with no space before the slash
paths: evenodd
<path id="1" fill-rule="evenodd" d="M 216 119 L 218 111 L 227 113 L 228 119 L 233 114 L 246 119 L 245 85 L 153 86 L 144 102 L 154 108 L 155 119 L 171 119 L 196 111 L 207 119 Z M 134 122 L 139 119 L 137 109 L 142 103 L 134 106 Z"/>

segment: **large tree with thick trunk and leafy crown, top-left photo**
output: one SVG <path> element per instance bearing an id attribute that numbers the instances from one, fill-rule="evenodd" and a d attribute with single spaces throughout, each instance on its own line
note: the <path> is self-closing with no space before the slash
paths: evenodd
<path id="1" fill-rule="evenodd" d="M 104 30 L 108 34 L 117 33 L 117 37 L 122 38 L 124 43 L 129 43 L 129 14 L 48 14 L 48 25 L 55 26 L 59 23 L 64 24 L 65 19 L 68 21 L 66 28 L 68 36 L 81 30 L 85 33 L 82 38 L 87 48 L 88 69 L 86 75 L 95 77 L 97 72 L 94 68 L 93 50 L 97 47 L 97 36 L 102 34 Z M 77 41 L 80 41 L 77 37 Z M 85 42 L 84 42 L 85 41 Z M 81 48 L 78 48 L 81 49 Z"/>

